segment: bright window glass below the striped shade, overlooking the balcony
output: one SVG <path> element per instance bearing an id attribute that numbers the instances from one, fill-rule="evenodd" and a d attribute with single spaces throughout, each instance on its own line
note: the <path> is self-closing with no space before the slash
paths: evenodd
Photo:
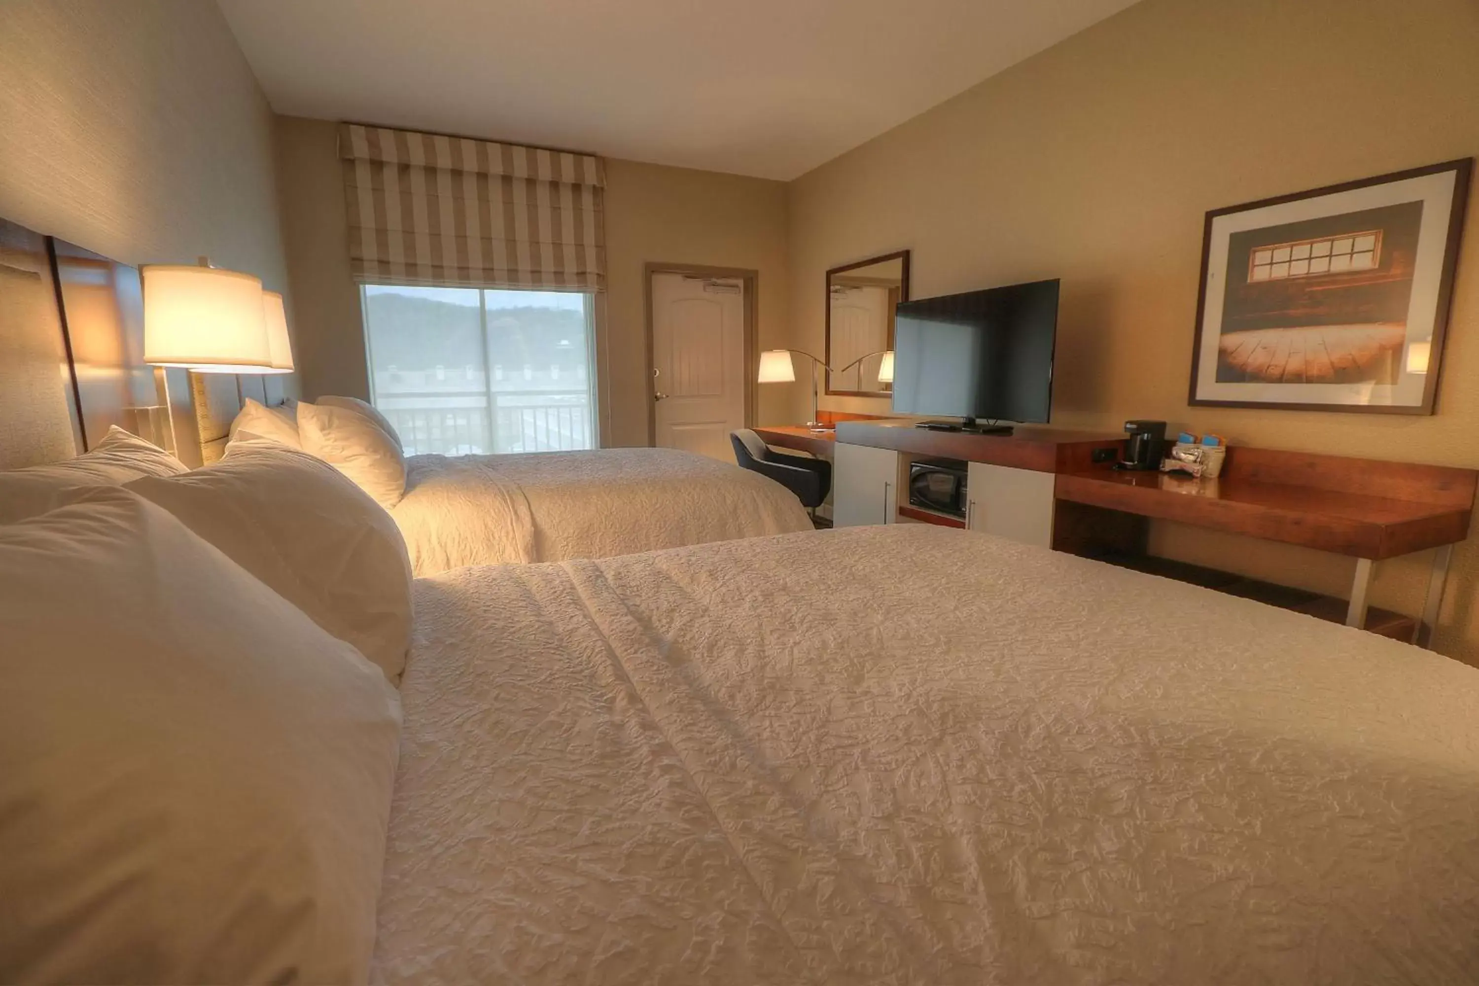
<path id="1" fill-rule="evenodd" d="M 370 393 L 407 455 L 595 448 L 592 296 L 367 284 Z"/>

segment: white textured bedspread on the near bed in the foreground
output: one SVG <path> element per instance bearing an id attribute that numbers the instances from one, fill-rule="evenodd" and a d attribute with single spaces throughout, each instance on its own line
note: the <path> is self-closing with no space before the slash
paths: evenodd
<path id="1" fill-rule="evenodd" d="M 1446 658 L 926 526 L 416 605 L 390 983 L 1479 980 Z"/>

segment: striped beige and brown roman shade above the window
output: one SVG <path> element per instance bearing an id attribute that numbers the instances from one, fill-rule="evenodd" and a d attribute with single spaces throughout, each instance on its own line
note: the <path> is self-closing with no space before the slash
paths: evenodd
<path id="1" fill-rule="evenodd" d="M 358 281 L 606 290 L 598 157 L 355 123 L 339 157 Z"/>

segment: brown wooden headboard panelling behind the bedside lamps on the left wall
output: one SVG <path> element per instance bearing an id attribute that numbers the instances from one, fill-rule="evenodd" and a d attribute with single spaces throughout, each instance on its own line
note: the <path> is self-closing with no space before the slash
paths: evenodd
<path id="1" fill-rule="evenodd" d="M 246 398 L 284 395 L 282 377 L 146 365 L 136 268 L 0 220 L 0 469 L 71 458 L 111 424 L 201 466 Z"/>

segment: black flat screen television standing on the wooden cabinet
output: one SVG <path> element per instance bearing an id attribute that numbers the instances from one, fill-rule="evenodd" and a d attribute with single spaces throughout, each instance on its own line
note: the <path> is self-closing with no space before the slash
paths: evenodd
<path id="1" fill-rule="evenodd" d="M 963 418 L 926 427 L 1046 423 L 1056 336 L 1056 279 L 904 302 L 893 330 L 893 409 Z"/>

